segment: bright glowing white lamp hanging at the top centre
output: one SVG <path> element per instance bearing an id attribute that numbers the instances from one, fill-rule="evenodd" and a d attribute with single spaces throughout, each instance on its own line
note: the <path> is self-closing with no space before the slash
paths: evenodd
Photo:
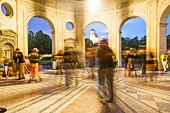
<path id="1" fill-rule="evenodd" d="M 89 10 L 91 13 L 97 13 L 99 8 L 99 0 L 89 0 Z"/>

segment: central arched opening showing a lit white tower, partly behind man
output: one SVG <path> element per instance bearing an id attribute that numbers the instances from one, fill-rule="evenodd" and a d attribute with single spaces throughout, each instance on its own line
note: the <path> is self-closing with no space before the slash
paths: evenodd
<path id="1" fill-rule="evenodd" d="M 98 62 L 95 61 L 94 54 L 101 38 L 106 38 L 106 40 L 108 41 L 108 30 L 104 24 L 96 22 L 89 24 L 86 27 L 85 30 L 86 67 L 94 67 L 98 64 Z"/>

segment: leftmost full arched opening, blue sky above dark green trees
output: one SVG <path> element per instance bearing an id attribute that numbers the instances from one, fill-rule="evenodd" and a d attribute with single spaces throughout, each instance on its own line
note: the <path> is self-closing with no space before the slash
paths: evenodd
<path id="1" fill-rule="evenodd" d="M 32 17 L 28 22 L 28 52 L 38 48 L 41 54 L 52 54 L 52 29 L 43 18 Z"/>

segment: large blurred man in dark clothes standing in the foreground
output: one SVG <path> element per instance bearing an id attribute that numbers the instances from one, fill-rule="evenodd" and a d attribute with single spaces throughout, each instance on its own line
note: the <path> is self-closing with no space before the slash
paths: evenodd
<path id="1" fill-rule="evenodd" d="M 99 91 L 102 92 L 102 100 L 101 102 L 113 102 L 113 59 L 114 56 L 113 51 L 108 47 L 106 39 L 102 39 L 100 41 L 100 47 L 97 50 L 97 57 L 99 59 L 99 70 L 98 70 L 98 77 L 99 77 Z M 107 86 L 105 85 L 105 78 L 107 81 Z M 109 94 L 107 94 L 107 89 Z M 100 93 L 99 92 L 99 93 Z"/>

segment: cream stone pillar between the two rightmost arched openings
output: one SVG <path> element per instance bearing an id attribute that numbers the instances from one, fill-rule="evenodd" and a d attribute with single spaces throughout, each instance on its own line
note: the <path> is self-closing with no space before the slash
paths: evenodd
<path id="1" fill-rule="evenodd" d="M 155 68 L 158 68 L 157 65 L 157 61 L 159 60 L 159 56 L 157 55 L 158 53 L 158 35 L 157 35 L 157 31 L 158 31 L 158 13 L 157 13 L 157 2 L 152 2 L 152 4 L 148 5 L 147 8 L 147 14 L 148 14 L 148 21 L 146 22 L 146 30 L 147 30 L 147 34 L 146 34 L 146 60 L 151 60 L 150 57 L 150 52 L 152 52 L 153 54 L 153 60 L 155 61 Z"/>

